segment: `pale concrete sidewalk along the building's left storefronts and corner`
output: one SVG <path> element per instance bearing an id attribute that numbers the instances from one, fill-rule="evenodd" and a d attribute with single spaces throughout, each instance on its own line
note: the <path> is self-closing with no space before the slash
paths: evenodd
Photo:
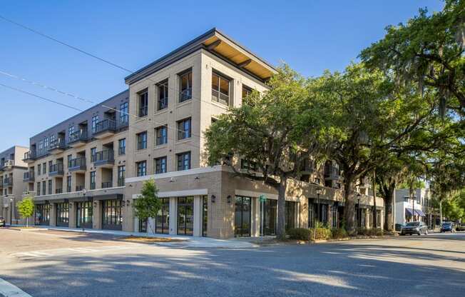
<path id="1" fill-rule="evenodd" d="M 15 226 L 15 225 L 13 225 Z M 21 227 L 18 225 L 18 227 Z M 171 234 L 155 234 L 155 233 L 141 233 L 141 232 L 126 232 L 126 231 L 113 231 L 113 230 L 96 230 L 96 229 L 81 229 L 81 228 L 66 228 L 66 227 L 51 227 L 51 226 L 35 226 L 36 228 L 45 230 L 57 231 L 70 231 L 70 232 L 84 232 L 93 234 L 109 234 L 115 236 L 141 236 L 141 237 L 158 237 L 158 238 L 175 238 L 181 241 L 176 242 L 163 242 L 154 243 L 159 246 L 175 246 L 183 248 L 255 248 L 257 244 L 243 241 L 236 238 L 231 239 L 215 239 L 210 237 L 198 236 L 180 236 Z M 27 229 L 27 231 L 34 231 L 34 229 Z"/>

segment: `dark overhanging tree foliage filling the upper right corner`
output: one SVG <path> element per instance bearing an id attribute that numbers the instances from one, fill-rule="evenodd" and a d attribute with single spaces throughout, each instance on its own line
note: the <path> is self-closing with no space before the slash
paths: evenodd
<path id="1" fill-rule="evenodd" d="M 388 26 L 383 39 L 360 54 L 367 66 L 392 72 L 399 83 L 436 92 L 445 109 L 465 116 L 465 1 L 446 0 L 442 11 Z"/>

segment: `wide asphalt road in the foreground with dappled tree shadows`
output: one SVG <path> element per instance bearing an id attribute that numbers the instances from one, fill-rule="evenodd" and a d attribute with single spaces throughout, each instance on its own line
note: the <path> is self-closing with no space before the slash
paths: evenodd
<path id="1" fill-rule="evenodd" d="M 464 296 L 465 233 L 193 249 L 0 229 L 0 278 L 51 296 Z"/>

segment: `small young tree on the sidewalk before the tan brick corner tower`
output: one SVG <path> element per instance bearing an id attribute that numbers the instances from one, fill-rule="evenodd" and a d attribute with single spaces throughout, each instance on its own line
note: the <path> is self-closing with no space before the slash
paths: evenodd
<path id="1" fill-rule="evenodd" d="M 135 199 L 133 203 L 134 214 L 139 218 L 139 220 L 145 221 L 148 218 L 155 218 L 161 208 L 161 201 L 158 198 L 157 193 L 158 188 L 153 179 L 143 183 L 140 196 Z M 153 226 L 151 226 L 150 223 L 148 223 L 148 226 L 152 233 L 155 233 Z"/>

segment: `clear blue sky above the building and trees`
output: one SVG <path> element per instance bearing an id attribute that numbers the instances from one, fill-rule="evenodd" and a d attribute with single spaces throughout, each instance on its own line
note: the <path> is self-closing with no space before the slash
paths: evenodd
<path id="1" fill-rule="evenodd" d="M 344 69 L 384 27 L 439 11 L 425 1 L 2 1 L 0 14 L 97 56 L 139 69 L 217 27 L 269 61 L 305 76 Z M 92 101 L 126 88 L 125 71 L 0 19 L 0 71 Z M 0 83 L 86 109 L 92 104 L 0 74 Z M 0 86 L 0 151 L 76 114 Z M 21 114 L 18 112 L 21 111 Z"/>

